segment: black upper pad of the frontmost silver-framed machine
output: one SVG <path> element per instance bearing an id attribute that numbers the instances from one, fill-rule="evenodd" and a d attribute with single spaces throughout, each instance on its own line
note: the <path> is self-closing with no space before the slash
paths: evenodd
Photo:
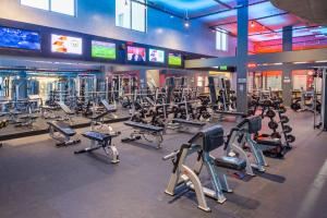
<path id="1" fill-rule="evenodd" d="M 223 145 L 223 129 L 221 125 L 214 125 L 202 130 L 189 143 L 197 144 L 205 153 L 209 153 Z"/>

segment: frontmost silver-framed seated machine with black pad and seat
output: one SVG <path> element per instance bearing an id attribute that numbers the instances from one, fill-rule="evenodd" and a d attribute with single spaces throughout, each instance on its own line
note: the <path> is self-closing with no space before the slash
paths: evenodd
<path id="1" fill-rule="evenodd" d="M 175 195 L 175 191 L 181 185 L 194 190 L 198 208 L 210 211 L 205 195 L 215 198 L 222 204 L 226 201 L 225 192 L 232 192 L 227 181 L 228 172 L 240 172 L 245 169 L 245 160 L 237 157 L 214 157 L 210 152 L 222 146 L 223 129 L 221 125 L 214 125 L 198 132 L 189 143 L 183 144 L 180 149 L 164 157 L 164 160 L 172 159 L 173 170 L 166 189 L 169 195 Z M 193 168 L 186 166 L 186 158 L 192 154 L 197 154 Z M 199 174 L 203 166 L 207 168 L 214 190 L 205 187 Z"/>

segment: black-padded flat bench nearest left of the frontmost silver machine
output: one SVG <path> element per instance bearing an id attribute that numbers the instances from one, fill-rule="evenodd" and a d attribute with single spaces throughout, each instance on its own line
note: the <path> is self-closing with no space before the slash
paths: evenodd
<path id="1" fill-rule="evenodd" d="M 146 137 L 146 135 L 155 137 L 157 148 L 161 148 L 161 143 L 164 141 L 162 134 L 164 134 L 164 128 L 144 124 L 140 122 L 133 122 L 133 121 L 126 121 L 124 122 L 125 125 L 131 126 L 134 129 L 134 132 L 131 133 L 130 137 L 124 137 L 121 140 L 122 143 L 133 142 L 141 140 L 143 136 L 144 140 L 148 142 L 153 142 L 149 138 Z"/>

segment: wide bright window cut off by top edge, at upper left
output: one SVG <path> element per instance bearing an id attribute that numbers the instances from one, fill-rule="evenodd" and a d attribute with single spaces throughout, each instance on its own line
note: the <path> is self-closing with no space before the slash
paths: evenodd
<path id="1" fill-rule="evenodd" d="M 74 16 L 75 1 L 76 0 L 21 0 L 21 4 Z"/>

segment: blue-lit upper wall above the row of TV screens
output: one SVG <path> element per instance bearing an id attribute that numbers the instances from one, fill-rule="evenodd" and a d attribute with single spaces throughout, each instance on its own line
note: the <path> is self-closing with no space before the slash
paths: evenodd
<path id="1" fill-rule="evenodd" d="M 77 16 L 73 17 L 24 7 L 20 0 L 0 0 L 0 17 L 195 53 L 234 56 L 234 49 L 217 51 L 215 33 L 197 21 L 185 29 L 182 20 L 148 9 L 148 32 L 141 33 L 116 26 L 114 0 L 76 1 Z"/>

